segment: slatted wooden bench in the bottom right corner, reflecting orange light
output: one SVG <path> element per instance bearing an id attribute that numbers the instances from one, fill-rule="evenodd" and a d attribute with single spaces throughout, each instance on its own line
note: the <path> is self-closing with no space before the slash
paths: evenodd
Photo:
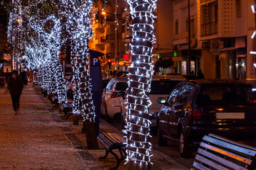
<path id="1" fill-rule="evenodd" d="M 255 169 L 256 148 L 218 135 L 203 137 L 192 169 Z"/>

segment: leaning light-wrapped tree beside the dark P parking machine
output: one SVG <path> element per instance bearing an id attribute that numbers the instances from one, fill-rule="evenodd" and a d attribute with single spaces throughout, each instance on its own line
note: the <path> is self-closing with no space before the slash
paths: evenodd
<path id="1" fill-rule="evenodd" d="M 97 149 L 95 133 L 95 108 L 92 102 L 90 75 L 88 69 L 89 48 L 88 41 L 92 36 L 90 12 L 92 0 L 63 0 L 67 27 L 75 46 L 75 56 L 78 62 L 79 91 L 81 98 L 81 112 L 84 118 L 84 127 L 89 149 Z"/>

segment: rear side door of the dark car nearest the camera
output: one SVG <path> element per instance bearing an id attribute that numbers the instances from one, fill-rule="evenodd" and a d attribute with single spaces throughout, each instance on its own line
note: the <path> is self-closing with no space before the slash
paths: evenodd
<path id="1" fill-rule="evenodd" d="M 186 101 L 188 96 L 193 89 L 192 84 L 183 84 L 181 90 L 172 101 L 172 106 L 169 113 L 169 131 L 171 136 L 174 138 L 178 137 L 178 124 L 181 123 L 181 120 L 184 118 L 184 113 L 186 110 Z"/>

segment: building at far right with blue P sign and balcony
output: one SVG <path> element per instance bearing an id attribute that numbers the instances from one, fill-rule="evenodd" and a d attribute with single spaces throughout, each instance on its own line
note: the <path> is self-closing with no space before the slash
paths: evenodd
<path id="1" fill-rule="evenodd" d="M 198 45 L 206 78 L 255 78 L 253 0 L 197 1 Z"/>

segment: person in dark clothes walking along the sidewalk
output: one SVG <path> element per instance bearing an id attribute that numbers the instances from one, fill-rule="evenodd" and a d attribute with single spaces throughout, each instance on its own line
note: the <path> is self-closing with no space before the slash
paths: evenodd
<path id="1" fill-rule="evenodd" d="M 23 81 L 16 70 L 12 72 L 12 77 L 9 77 L 7 87 L 11 94 L 11 101 L 14 107 L 14 115 L 16 115 L 19 108 L 19 98 L 21 97 L 21 92 L 23 90 Z"/>

